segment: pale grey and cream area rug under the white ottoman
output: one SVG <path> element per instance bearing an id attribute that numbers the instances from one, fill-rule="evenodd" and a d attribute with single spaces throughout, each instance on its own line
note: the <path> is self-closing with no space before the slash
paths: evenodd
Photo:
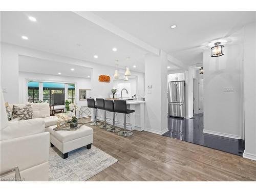
<path id="1" fill-rule="evenodd" d="M 50 147 L 49 181 L 86 181 L 118 160 L 92 145 L 78 148 L 62 159 L 56 147 Z"/>

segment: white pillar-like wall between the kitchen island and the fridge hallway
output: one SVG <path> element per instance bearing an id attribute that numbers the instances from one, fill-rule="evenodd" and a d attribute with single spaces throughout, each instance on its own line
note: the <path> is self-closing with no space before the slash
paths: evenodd
<path id="1" fill-rule="evenodd" d="M 145 55 L 145 130 L 163 134 L 167 129 L 167 55 Z M 147 89 L 152 86 L 152 89 Z"/>

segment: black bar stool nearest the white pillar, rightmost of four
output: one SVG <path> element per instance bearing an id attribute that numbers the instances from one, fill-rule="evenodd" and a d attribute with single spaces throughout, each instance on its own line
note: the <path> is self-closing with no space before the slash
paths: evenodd
<path id="1" fill-rule="evenodd" d="M 117 113 L 123 113 L 123 125 L 124 125 L 124 130 L 118 132 L 117 134 L 120 136 L 131 136 L 133 135 L 132 131 L 127 131 L 126 130 L 126 124 L 130 124 L 130 123 L 126 123 L 126 114 L 130 114 L 130 113 L 134 113 L 134 110 L 127 110 L 127 104 L 125 100 L 115 100 L 115 112 Z"/>

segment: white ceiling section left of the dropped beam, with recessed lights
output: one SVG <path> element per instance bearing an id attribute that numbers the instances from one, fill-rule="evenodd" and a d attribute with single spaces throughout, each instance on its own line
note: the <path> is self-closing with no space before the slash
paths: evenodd
<path id="1" fill-rule="evenodd" d="M 145 51 L 70 11 L 1 12 L 1 41 L 109 66 L 117 59 L 120 68 L 144 72 Z"/>

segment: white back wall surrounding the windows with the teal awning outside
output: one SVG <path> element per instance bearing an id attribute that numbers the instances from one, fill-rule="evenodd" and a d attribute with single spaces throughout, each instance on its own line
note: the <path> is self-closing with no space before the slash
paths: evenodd
<path id="1" fill-rule="evenodd" d="M 27 84 L 26 80 L 42 80 L 56 82 L 72 82 L 76 84 L 76 103 L 78 106 L 87 106 L 86 100 L 79 100 L 79 89 L 91 89 L 90 78 L 67 77 L 57 75 L 47 75 L 39 73 L 19 72 L 19 103 L 27 102 Z M 8 100 L 7 100 L 8 102 Z"/>

